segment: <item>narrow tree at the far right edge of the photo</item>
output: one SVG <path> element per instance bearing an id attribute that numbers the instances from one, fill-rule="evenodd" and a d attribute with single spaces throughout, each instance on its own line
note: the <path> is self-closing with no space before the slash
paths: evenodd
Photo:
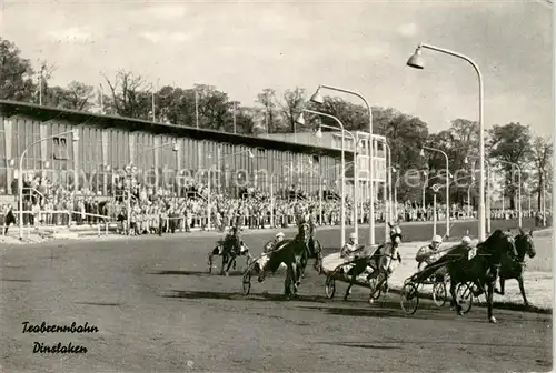
<path id="1" fill-rule="evenodd" d="M 549 140 L 543 137 L 536 137 L 533 140 L 533 147 L 530 152 L 530 161 L 533 165 L 533 185 L 530 189 L 532 193 L 537 193 L 537 208 L 542 208 L 542 198 L 544 192 L 552 191 L 552 173 L 553 164 L 550 163 L 550 158 L 553 155 L 554 147 Z"/>

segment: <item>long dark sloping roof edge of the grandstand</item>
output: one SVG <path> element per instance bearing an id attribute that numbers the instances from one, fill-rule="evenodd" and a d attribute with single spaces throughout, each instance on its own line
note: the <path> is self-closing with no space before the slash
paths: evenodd
<path id="1" fill-rule="evenodd" d="M 250 148 L 290 151 L 294 153 L 322 154 L 335 158 L 339 158 L 341 154 L 339 150 L 326 147 L 315 147 L 290 141 L 279 141 L 275 139 L 264 139 L 246 134 L 219 132 L 215 130 L 198 129 L 195 127 L 156 123 L 142 119 L 103 115 L 77 110 L 38 105 L 27 102 L 0 100 L 0 113 L 6 117 L 24 115 L 40 121 L 60 119 L 67 120 L 70 123 L 75 123 L 75 125 L 90 123 L 102 128 L 119 128 L 128 131 L 145 131 L 156 134 L 170 134 L 180 138 L 211 140 L 216 142 L 226 142 Z M 351 159 L 353 154 L 346 152 L 346 158 Z"/>

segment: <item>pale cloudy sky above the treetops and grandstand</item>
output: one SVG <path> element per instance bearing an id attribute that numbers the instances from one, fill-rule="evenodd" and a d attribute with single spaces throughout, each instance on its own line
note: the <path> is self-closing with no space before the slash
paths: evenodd
<path id="1" fill-rule="evenodd" d="M 311 94 L 328 84 L 419 117 L 431 132 L 477 120 L 470 64 L 425 50 L 424 70 L 405 65 L 425 42 L 479 65 L 486 128 L 520 122 L 552 137 L 555 127 L 548 0 L 0 3 L 2 38 L 53 63 L 53 84 L 98 84 L 100 72 L 126 69 L 160 85 L 215 85 L 246 105 L 266 88 Z"/>

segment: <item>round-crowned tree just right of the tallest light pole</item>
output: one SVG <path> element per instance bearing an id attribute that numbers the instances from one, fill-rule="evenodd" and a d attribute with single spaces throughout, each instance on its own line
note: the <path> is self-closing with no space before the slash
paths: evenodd
<path id="1" fill-rule="evenodd" d="M 508 123 L 506 125 L 495 125 L 489 131 L 489 152 L 488 155 L 500 163 L 505 171 L 504 185 L 502 189 L 503 198 L 510 198 L 510 209 L 515 209 L 515 198 L 517 195 L 518 184 L 516 182 L 517 170 L 512 164 L 517 164 L 522 170 L 527 165 L 532 157 L 529 128 L 520 123 Z M 525 174 L 524 174 L 525 179 Z M 522 180 L 525 182 L 526 180 Z"/>

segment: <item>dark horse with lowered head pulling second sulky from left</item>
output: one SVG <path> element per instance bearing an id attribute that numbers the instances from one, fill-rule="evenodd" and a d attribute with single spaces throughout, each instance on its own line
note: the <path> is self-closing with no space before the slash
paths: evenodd
<path id="1" fill-rule="evenodd" d="M 281 263 L 286 264 L 286 280 L 284 281 L 284 294 L 289 298 L 297 294 L 300 276 L 300 262 L 307 252 L 307 245 L 299 239 L 284 240 L 268 253 L 268 261 L 260 269 L 259 282 L 265 281 L 268 272 L 275 273 Z"/>

